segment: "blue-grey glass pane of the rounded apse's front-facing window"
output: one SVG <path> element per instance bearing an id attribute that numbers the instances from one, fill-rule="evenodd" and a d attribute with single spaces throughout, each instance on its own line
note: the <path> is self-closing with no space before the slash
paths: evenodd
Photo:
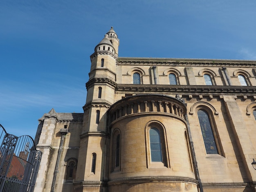
<path id="1" fill-rule="evenodd" d="M 159 130 L 155 127 L 149 129 L 151 161 L 163 162 Z"/>

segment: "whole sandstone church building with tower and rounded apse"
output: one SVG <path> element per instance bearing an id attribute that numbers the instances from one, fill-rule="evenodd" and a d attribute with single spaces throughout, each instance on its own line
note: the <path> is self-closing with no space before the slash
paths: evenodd
<path id="1" fill-rule="evenodd" d="M 256 61 L 90 56 L 83 113 L 39 119 L 36 192 L 255 192 Z"/>

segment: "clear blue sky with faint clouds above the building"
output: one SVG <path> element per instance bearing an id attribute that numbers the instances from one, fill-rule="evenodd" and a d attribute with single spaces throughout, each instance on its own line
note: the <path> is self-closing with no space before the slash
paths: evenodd
<path id="1" fill-rule="evenodd" d="M 83 112 L 90 55 L 111 26 L 121 57 L 256 60 L 255 0 L 1 0 L 0 124 Z"/>

